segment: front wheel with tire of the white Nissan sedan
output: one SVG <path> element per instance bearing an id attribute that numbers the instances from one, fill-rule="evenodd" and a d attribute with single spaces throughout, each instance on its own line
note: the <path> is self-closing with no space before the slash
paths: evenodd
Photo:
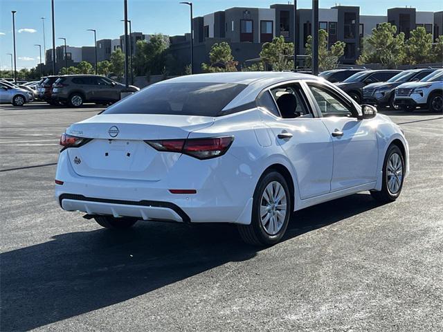
<path id="1" fill-rule="evenodd" d="M 391 145 L 383 161 L 383 184 L 381 191 L 371 191 L 372 197 L 381 203 L 398 199 L 404 181 L 404 156 L 397 145 Z"/>

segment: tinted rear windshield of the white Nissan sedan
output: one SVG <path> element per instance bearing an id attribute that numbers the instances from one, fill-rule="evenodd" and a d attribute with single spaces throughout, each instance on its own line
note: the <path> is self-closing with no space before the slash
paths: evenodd
<path id="1" fill-rule="evenodd" d="M 231 83 L 153 84 L 102 114 L 219 116 L 221 110 L 245 87 L 245 84 Z"/>

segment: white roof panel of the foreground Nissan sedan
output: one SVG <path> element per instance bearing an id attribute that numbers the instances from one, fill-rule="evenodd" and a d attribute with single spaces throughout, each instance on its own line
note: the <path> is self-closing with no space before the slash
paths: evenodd
<path id="1" fill-rule="evenodd" d="M 292 73 L 285 71 L 248 71 L 234 73 L 207 73 L 186 75 L 165 80 L 157 84 L 165 83 L 232 83 L 232 84 L 277 84 L 289 80 L 323 80 L 314 75 Z"/>

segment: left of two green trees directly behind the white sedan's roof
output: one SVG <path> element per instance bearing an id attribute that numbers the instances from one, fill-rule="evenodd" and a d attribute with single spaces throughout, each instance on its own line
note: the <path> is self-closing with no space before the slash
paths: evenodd
<path id="1" fill-rule="evenodd" d="M 238 62 L 234 61 L 230 46 L 226 42 L 215 43 L 209 52 L 210 64 L 201 64 L 201 69 L 206 73 L 220 73 L 237 71 Z"/>

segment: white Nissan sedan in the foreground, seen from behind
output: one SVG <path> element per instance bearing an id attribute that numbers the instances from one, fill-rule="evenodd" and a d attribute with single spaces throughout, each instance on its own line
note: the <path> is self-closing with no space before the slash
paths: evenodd
<path id="1" fill-rule="evenodd" d="M 291 212 L 356 192 L 395 201 L 408 174 L 397 124 L 296 73 L 188 75 L 152 84 L 62 135 L 55 195 L 105 228 L 236 223 L 278 242 Z M 165 224 L 165 227 L 168 227 Z"/>

